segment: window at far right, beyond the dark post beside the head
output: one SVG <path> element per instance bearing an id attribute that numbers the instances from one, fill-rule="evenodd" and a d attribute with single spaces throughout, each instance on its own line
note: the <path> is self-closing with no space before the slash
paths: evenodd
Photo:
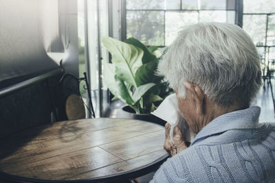
<path id="1" fill-rule="evenodd" d="M 256 45 L 266 75 L 268 61 L 275 59 L 275 1 L 244 0 L 243 29 Z"/>

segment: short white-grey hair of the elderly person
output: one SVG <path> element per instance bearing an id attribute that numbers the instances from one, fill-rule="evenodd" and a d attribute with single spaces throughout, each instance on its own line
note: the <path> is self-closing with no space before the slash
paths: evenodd
<path id="1" fill-rule="evenodd" d="M 218 106 L 248 107 L 261 86 L 259 54 L 250 36 L 230 23 L 198 23 L 184 27 L 159 61 L 180 97 L 183 82 L 197 84 Z"/>

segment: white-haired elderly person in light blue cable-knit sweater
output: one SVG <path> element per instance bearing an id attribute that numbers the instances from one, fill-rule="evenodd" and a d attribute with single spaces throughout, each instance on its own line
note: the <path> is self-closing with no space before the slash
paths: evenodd
<path id="1" fill-rule="evenodd" d="M 166 124 L 168 158 L 151 182 L 275 182 L 275 127 L 250 107 L 261 86 L 250 36 L 229 23 L 185 27 L 159 62 L 178 108 L 197 133 L 187 148 Z"/>

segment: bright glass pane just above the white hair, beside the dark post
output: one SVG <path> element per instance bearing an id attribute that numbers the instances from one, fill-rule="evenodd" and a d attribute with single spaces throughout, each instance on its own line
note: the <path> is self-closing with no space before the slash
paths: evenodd
<path id="1" fill-rule="evenodd" d="M 234 23 L 235 22 L 235 12 L 234 11 L 200 11 L 199 12 L 199 22 L 227 22 Z"/>

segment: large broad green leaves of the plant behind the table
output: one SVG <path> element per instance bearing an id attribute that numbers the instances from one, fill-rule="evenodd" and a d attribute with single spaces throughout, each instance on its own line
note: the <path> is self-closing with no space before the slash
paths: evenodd
<path id="1" fill-rule="evenodd" d="M 104 63 L 103 75 L 114 99 L 124 101 L 135 114 L 150 114 L 172 91 L 163 77 L 155 75 L 157 47 L 147 48 L 135 38 L 101 41 L 112 56 L 112 63 Z M 130 112 L 129 107 L 124 110 Z"/>

